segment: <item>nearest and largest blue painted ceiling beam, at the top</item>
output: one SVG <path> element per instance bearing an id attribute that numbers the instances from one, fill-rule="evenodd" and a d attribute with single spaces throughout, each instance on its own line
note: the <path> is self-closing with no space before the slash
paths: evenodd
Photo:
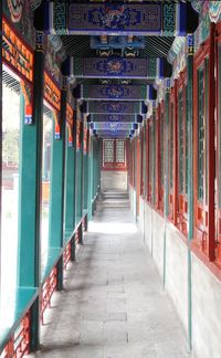
<path id="1" fill-rule="evenodd" d="M 187 4 L 155 1 L 148 3 L 73 3 L 44 1 L 44 32 L 91 35 L 186 35 Z"/>

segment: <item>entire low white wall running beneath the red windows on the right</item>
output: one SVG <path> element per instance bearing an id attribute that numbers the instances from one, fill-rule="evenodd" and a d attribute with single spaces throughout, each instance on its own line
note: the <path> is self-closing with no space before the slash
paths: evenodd
<path id="1" fill-rule="evenodd" d="M 130 198 L 135 200 L 133 190 Z M 136 200 L 135 200 L 136 201 Z M 135 203 L 133 202 L 133 208 Z M 183 236 L 140 198 L 139 230 L 188 335 L 188 248 Z M 165 243 L 165 244 L 164 244 Z M 190 257 L 193 358 L 221 358 L 221 282 L 194 253 Z"/>

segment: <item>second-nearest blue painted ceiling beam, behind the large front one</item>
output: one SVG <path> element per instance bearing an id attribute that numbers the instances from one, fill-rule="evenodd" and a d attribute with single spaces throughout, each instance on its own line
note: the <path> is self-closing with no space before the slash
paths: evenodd
<path id="1" fill-rule="evenodd" d="M 75 78 L 138 78 L 170 77 L 172 66 L 166 59 L 71 57 L 70 76 Z"/>

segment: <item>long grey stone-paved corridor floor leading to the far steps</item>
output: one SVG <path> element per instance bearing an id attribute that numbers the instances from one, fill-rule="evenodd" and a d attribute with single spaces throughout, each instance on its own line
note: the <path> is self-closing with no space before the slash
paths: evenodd
<path id="1" fill-rule="evenodd" d="M 106 196 L 42 329 L 34 357 L 189 358 L 182 327 L 128 202 Z"/>

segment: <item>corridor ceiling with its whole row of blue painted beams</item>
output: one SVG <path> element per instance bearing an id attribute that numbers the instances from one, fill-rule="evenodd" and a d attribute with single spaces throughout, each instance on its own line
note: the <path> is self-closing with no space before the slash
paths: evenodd
<path id="1" fill-rule="evenodd" d="M 175 39 L 197 28 L 193 1 L 42 3 L 35 22 L 62 43 L 63 70 L 94 135 L 134 135 L 156 99 L 157 84 L 172 74 L 167 59 Z M 140 102 L 139 110 L 130 102 Z"/>

